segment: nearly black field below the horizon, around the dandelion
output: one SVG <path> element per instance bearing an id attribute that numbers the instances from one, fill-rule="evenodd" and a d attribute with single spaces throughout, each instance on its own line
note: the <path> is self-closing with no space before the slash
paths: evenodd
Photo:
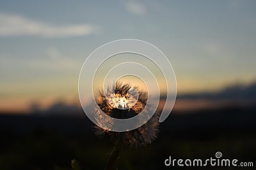
<path id="1" fill-rule="evenodd" d="M 151 145 L 124 148 L 118 169 L 182 169 L 166 167 L 164 160 L 207 159 L 216 152 L 223 158 L 253 162 L 255 167 L 255 120 L 256 108 L 173 111 Z M 2 114 L 0 169 L 71 169 L 72 159 L 82 169 L 104 169 L 113 143 L 97 138 L 92 126 L 82 112 L 81 117 Z"/>

